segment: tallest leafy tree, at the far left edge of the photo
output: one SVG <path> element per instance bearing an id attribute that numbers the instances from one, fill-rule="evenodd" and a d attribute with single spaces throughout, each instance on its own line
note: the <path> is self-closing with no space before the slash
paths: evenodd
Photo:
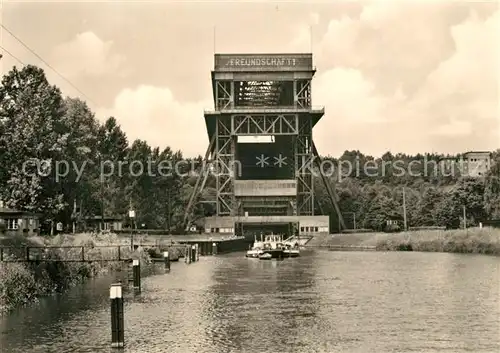
<path id="1" fill-rule="evenodd" d="M 2 198 L 10 207 L 54 220 L 67 206 L 54 177 L 55 163 L 65 160 L 70 135 L 61 92 L 49 84 L 42 69 L 14 67 L 2 79 L 0 114 Z M 42 173 L 37 164 L 45 167 Z"/>

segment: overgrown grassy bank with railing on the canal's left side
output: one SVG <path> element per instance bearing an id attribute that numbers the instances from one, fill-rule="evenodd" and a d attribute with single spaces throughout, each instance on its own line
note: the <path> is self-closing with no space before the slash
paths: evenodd
<path id="1" fill-rule="evenodd" d="M 116 256 L 116 248 L 99 248 L 120 244 L 116 235 L 77 234 L 56 236 L 51 239 L 3 238 L 3 246 L 84 246 L 87 259 L 106 259 Z M 126 245 L 126 244 L 123 244 Z M 95 247 L 95 248 L 93 248 Z M 80 249 L 68 249 L 50 253 L 50 258 L 57 260 L 74 259 Z M 129 257 L 130 250 L 121 249 L 124 257 Z M 143 252 L 136 252 L 133 257 L 147 259 Z M 30 262 L 0 263 L 0 313 L 15 307 L 37 301 L 41 296 L 61 292 L 88 278 L 111 271 L 121 270 L 121 262 Z"/>

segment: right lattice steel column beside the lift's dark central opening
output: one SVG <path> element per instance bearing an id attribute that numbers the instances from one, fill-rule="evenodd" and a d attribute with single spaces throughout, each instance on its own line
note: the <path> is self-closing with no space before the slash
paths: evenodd
<path id="1" fill-rule="evenodd" d="M 309 116 L 299 119 L 295 138 L 295 170 L 297 177 L 297 216 L 314 216 L 314 178 L 312 164 L 312 120 Z"/>

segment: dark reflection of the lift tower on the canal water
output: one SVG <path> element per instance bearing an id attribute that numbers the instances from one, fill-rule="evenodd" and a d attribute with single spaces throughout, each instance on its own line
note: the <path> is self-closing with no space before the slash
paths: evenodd
<path id="1" fill-rule="evenodd" d="M 313 257 L 227 260 L 214 272 L 213 303 L 204 313 L 213 351 L 288 351 L 304 319 L 315 314 Z"/>

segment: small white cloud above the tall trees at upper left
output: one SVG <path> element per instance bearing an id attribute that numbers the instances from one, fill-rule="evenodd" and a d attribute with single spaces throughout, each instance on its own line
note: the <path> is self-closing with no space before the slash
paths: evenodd
<path id="1" fill-rule="evenodd" d="M 52 56 L 66 77 L 80 75 L 123 75 L 125 57 L 113 53 L 113 42 L 103 41 L 93 32 L 77 34 L 54 48 Z"/>

